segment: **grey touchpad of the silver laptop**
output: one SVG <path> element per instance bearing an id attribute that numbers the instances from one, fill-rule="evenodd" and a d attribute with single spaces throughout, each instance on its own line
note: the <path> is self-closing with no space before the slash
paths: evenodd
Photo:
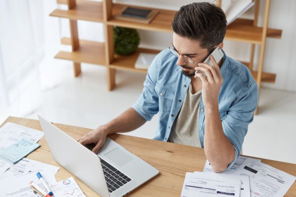
<path id="1" fill-rule="evenodd" d="M 123 150 L 121 150 L 118 147 L 114 148 L 108 153 L 105 153 L 104 156 L 119 166 L 127 164 L 133 160 L 133 158 L 130 155 L 126 154 Z"/>

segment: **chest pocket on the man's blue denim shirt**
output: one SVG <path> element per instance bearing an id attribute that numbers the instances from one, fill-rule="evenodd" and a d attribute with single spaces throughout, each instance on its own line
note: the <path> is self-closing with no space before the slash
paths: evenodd
<path id="1" fill-rule="evenodd" d="M 155 92 L 158 95 L 159 112 L 170 113 L 175 97 L 175 91 L 156 83 Z"/>

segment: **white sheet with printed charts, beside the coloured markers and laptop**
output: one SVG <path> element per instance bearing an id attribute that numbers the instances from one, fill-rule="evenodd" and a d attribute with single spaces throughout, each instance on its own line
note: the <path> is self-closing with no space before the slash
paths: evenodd
<path id="1" fill-rule="evenodd" d="M 50 189 L 55 197 L 85 197 L 73 177 L 59 181 Z"/>

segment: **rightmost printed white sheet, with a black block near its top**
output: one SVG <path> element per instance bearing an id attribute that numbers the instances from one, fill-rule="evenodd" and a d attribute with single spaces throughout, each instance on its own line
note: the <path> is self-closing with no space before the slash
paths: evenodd
<path id="1" fill-rule="evenodd" d="M 296 180 L 295 176 L 252 159 L 247 159 L 238 171 L 250 176 L 251 197 L 283 197 Z"/>

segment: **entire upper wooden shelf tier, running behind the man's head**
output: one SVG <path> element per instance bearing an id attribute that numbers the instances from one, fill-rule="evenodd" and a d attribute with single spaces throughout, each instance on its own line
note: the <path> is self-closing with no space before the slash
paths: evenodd
<path id="1" fill-rule="evenodd" d="M 65 3 L 65 0 L 58 0 L 58 3 Z M 102 2 L 95 2 L 89 0 L 77 0 L 76 7 L 71 10 L 54 10 L 50 16 L 70 18 L 73 20 L 87 20 L 95 22 L 103 22 L 103 7 Z M 113 3 L 112 14 L 119 13 L 122 8 L 126 6 L 124 4 Z M 139 7 L 139 6 L 135 6 Z M 144 8 L 144 7 L 139 7 Z M 154 9 L 154 8 L 153 8 Z M 159 13 L 149 23 L 137 23 L 124 21 L 112 18 L 107 21 L 108 25 L 119 26 L 125 28 L 134 28 L 138 30 L 149 30 L 158 32 L 172 32 L 171 23 L 175 16 L 176 11 L 155 9 Z M 282 30 L 267 29 L 267 37 L 281 38 Z M 225 35 L 225 39 L 242 41 L 248 43 L 261 44 L 262 28 L 254 27 L 253 20 L 249 19 L 236 19 L 228 27 Z"/>

